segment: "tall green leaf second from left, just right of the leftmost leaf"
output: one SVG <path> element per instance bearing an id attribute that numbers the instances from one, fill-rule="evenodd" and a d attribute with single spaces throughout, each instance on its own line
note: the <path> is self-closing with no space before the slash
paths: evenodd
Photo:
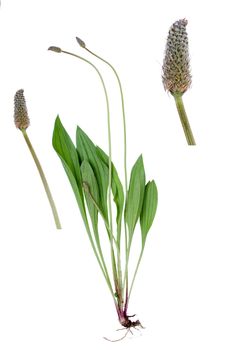
<path id="1" fill-rule="evenodd" d="M 107 209 L 107 189 L 108 189 L 108 168 L 98 157 L 95 145 L 84 131 L 77 127 L 76 133 L 77 151 L 80 155 L 81 161 L 87 160 L 93 169 L 99 189 L 99 206 L 104 215 L 106 222 L 108 222 Z"/>

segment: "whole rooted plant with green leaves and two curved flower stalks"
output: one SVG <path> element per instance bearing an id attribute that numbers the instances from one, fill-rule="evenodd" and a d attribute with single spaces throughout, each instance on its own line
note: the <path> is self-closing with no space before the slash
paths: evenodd
<path id="1" fill-rule="evenodd" d="M 76 128 L 74 143 L 59 116 L 54 126 L 53 147 L 72 186 L 92 250 L 112 296 L 118 320 L 127 330 L 126 336 L 132 327 L 142 327 L 139 319 L 133 319 L 135 315 L 128 314 L 128 306 L 148 232 L 156 214 L 158 192 L 155 181 L 146 180 L 142 155 L 135 161 L 128 181 L 126 116 L 121 80 L 110 62 L 88 49 L 83 40 L 76 39 L 87 54 L 103 61 L 116 77 L 121 95 L 124 131 L 124 186 L 112 160 L 110 101 L 103 76 L 89 59 L 57 46 L 51 46 L 49 50 L 76 57 L 87 63 L 100 80 L 106 101 L 108 150 L 104 151 L 97 146 L 79 125 Z M 99 225 L 100 220 L 104 223 L 105 233 Z M 132 242 L 137 226 L 140 226 L 141 247 L 131 274 L 129 272 L 132 267 L 129 263 L 133 254 Z M 107 252 L 102 248 L 103 240 L 108 241 L 110 262 L 106 259 Z"/>

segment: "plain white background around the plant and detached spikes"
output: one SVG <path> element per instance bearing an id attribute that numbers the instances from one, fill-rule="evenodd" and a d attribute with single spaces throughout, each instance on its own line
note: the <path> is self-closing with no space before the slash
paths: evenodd
<path id="1" fill-rule="evenodd" d="M 232 107 L 230 1 L 2 0 L 0 9 L 0 349 L 231 350 Z M 170 25 L 187 18 L 193 84 L 184 96 L 197 146 L 188 147 L 161 66 Z M 123 335 L 77 205 L 52 149 L 56 115 L 107 150 L 96 73 L 57 45 L 112 62 L 127 112 L 129 168 L 142 152 L 159 207 L 131 299 L 146 327 Z M 120 99 L 109 69 L 113 158 L 123 177 Z M 28 134 L 60 213 L 57 231 L 41 181 L 13 123 L 24 88 Z M 135 241 L 134 247 L 139 244 Z"/>

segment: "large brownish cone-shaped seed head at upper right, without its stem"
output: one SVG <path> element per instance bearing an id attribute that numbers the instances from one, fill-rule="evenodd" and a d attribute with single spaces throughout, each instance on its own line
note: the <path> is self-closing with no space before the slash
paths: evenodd
<path id="1" fill-rule="evenodd" d="M 188 21 L 180 19 L 169 29 L 163 62 L 163 85 L 172 94 L 183 94 L 191 85 Z"/>

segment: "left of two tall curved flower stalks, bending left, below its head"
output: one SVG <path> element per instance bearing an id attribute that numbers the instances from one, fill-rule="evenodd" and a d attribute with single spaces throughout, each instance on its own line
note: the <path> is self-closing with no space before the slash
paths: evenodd
<path id="1" fill-rule="evenodd" d="M 87 60 L 86 58 L 76 55 L 74 53 L 68 52 L 68 51 L 64 51 L 61 50 L 61 52 L 70 55 L 70 56 L 74 56 L 79 58 L 80 60 L 88 63 L 89 65 L 91 65 L 95 71 L 97 72 L 102 86 L 103 86 L 103 90 L 104 90 L 104 94 L 105 94 L 105 99 L 106 99 L 106 106 L 107 106 L 107 124 L 108 124 L 108 142 L 109 142 L 109 179 L 108 179 L 108 184 L 109 184 L 109 188 L 108 188 L 108 205 L 109 205 L 109 226 L 110 226 L 110 246 L 111 246 L 111 261 L 112 261 L 112 270 L 113 270 L 113 276 L 114 276 L 114 281 L 116 284 L 116 281 L 118 279 L 117 276 L 117 270 L 115 269 L 115 255 L 114 255 L 114 248 L 113 248 L 113 227 L 112 227 L 112 207 L 111 207 L 111 183 L 112 183 L 112 150 L 111 150 L 111 128 L 110 128 L 110 109 L 109 109 L 109 98 L 108 98 L 108 93 L 106 90 L 106 86 L 104 83 L 104 80 L 102 78 L 102 75 L 100 73 L 100 71 L 98 70 L 98 68 L 89 60 Z"/>

